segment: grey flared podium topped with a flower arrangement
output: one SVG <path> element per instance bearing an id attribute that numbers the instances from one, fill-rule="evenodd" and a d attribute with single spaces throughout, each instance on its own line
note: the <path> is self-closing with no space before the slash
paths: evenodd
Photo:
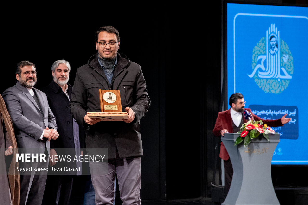
<path id="1" fill-rule="evenodd" d="M 222 205 L 280 205 L 271 177 L 271 161 L 280 135 L 270 134 L 267 141 L 260 134 L 247 147 L 243 143 L 234 146 L 239 135 L 221 136 L 233 167 L 231 186 Z"/>

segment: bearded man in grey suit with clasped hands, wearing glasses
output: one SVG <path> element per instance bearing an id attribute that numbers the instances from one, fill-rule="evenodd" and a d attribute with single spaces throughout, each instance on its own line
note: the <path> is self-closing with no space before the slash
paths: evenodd
<path id="1" fill-rule="evenodd" d="M 35 65 L 29 61 L 17 64 L 15 86 L 6 89 L 3 99 L 14 124 L 19 153 L 49 155 L 50 140 L 58 138 L 56 118 L 48 106 L 46 95 L 35 88 L 37 78 Z M 47 162 L 21 163 L 19 168 L 30 168 L 28 174 L 20 175 L 20 204 L 41 204 L 47 172 L 34 171 L 47 168 Z M 24 172 L 26 173 L 26 172 Z"/>

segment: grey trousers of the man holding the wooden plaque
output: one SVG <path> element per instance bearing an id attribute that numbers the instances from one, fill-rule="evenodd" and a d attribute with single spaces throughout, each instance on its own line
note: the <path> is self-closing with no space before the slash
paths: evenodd
<path id="1" fill-rule="evenodd" d="M 123 205 L 140 205 L 140 157 L 108 159 L 107 162 L 89 162 L 96 205 L 112 205 L 115 175 L 118 178 Z"/>

